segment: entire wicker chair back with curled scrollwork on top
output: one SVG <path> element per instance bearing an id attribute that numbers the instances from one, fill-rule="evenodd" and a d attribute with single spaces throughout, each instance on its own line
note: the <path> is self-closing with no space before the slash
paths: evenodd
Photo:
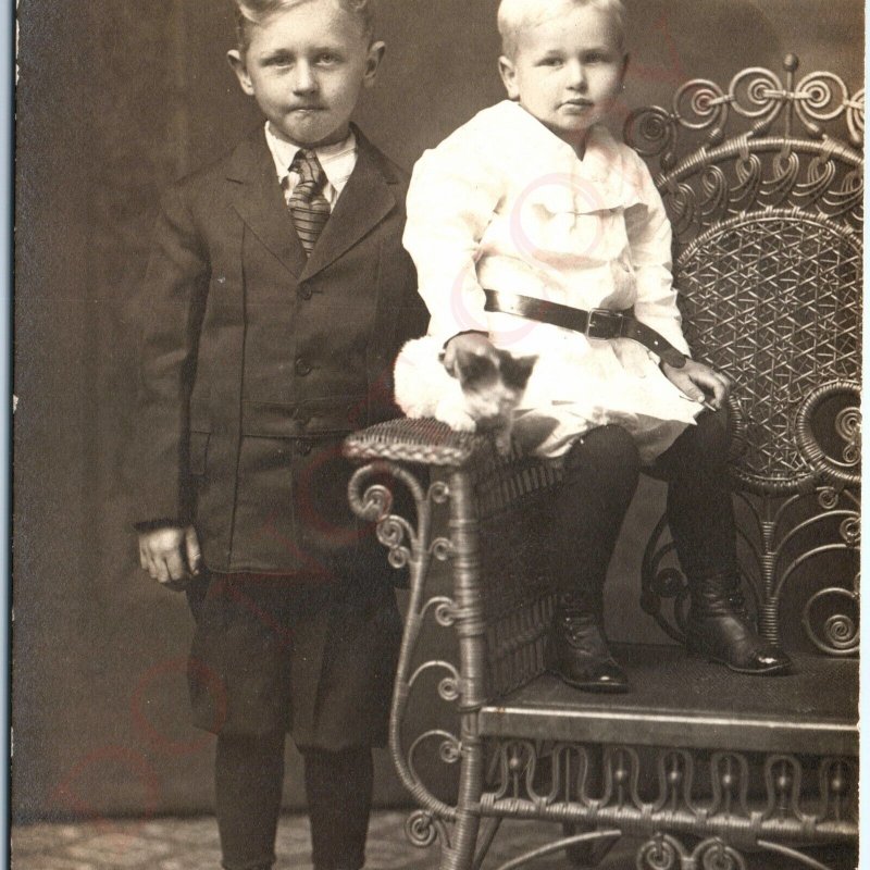
<path id="1" fill-rule="evenodd" d="M 770 495 L 858 472 L 863 95 L 796 69 L 689 82 L 625 128 L 659 159 L 693 353 L 736 383 L 734 475 Z"/>

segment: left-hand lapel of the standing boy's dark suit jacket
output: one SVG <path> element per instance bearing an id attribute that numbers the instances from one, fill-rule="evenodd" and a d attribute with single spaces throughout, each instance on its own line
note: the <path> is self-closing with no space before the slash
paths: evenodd
<path id="1" fill-rule="evenodd" d="M 237 186 L 233 207 L 260 241 L 298 276 L 307 263 L 306 252 L 277 183 L 265 136 L 262 129 L 258 134 L 240 142 L 231 158 L 226 177 Z"/>

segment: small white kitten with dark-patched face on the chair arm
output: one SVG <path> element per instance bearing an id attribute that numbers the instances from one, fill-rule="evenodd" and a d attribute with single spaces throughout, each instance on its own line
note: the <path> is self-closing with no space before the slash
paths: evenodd
<path id="1" fill-rule="evenodd" d="M 440 343 L 414 338 L 396 359 L 396 402 L 410 418 L 434 417 L 457 432 L 492 432 L 502 455 L 510 451 L 513 411 L 522 400 L 536 357 L 493 348 L 460 351 L 455 372 L 444 368 Z"/>

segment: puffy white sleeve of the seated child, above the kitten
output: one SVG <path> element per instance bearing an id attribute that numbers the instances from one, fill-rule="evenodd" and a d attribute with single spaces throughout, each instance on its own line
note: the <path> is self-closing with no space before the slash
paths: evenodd
<path id="1" fill-rule="evenodd" d="M 432 318 L 428 333 L 440 341 L 487 331 L 476 262 L 500 200 L 500 176 L 486 148 L 461 133 L 423 154 L 408 191 L 405 247 Z"/>

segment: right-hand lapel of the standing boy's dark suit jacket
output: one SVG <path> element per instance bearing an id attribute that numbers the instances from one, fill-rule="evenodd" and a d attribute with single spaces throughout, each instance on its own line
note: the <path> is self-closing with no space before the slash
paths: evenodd
<path id="1" fill-rule="evenodd" d="M 301 277 L 309 278 L 356 245 L 396 208 L 397 183 L 381 153 L 357 129 L 357 165 L 338 197 Z"/>

